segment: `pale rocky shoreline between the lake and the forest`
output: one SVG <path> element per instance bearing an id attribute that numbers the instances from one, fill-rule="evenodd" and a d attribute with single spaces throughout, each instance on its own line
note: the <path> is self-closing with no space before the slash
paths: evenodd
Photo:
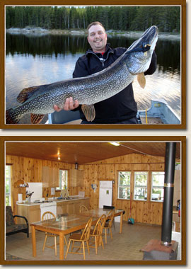
<path id="1" fill-rule="evenodd" d="M 47 30 L 44 28 L 36 27 L 36 28 L 9 28 L 6 29 L 6 33 L 11 33 L 15 35 L 23 34 L 23 35 L 87 35 L 86 30 L 62 30 L 62 29 L 53 29 Z M 138 31 L 120 31 L 120 30 L 108 30 L 107 34 L 109 37 L 112 36 L 122 36 L 125 38 L 140 38 L 143 32 Z M 168 39 L 168 40 L 180 40 L 180 33 L 159 33 L 158 39 Z"/>

